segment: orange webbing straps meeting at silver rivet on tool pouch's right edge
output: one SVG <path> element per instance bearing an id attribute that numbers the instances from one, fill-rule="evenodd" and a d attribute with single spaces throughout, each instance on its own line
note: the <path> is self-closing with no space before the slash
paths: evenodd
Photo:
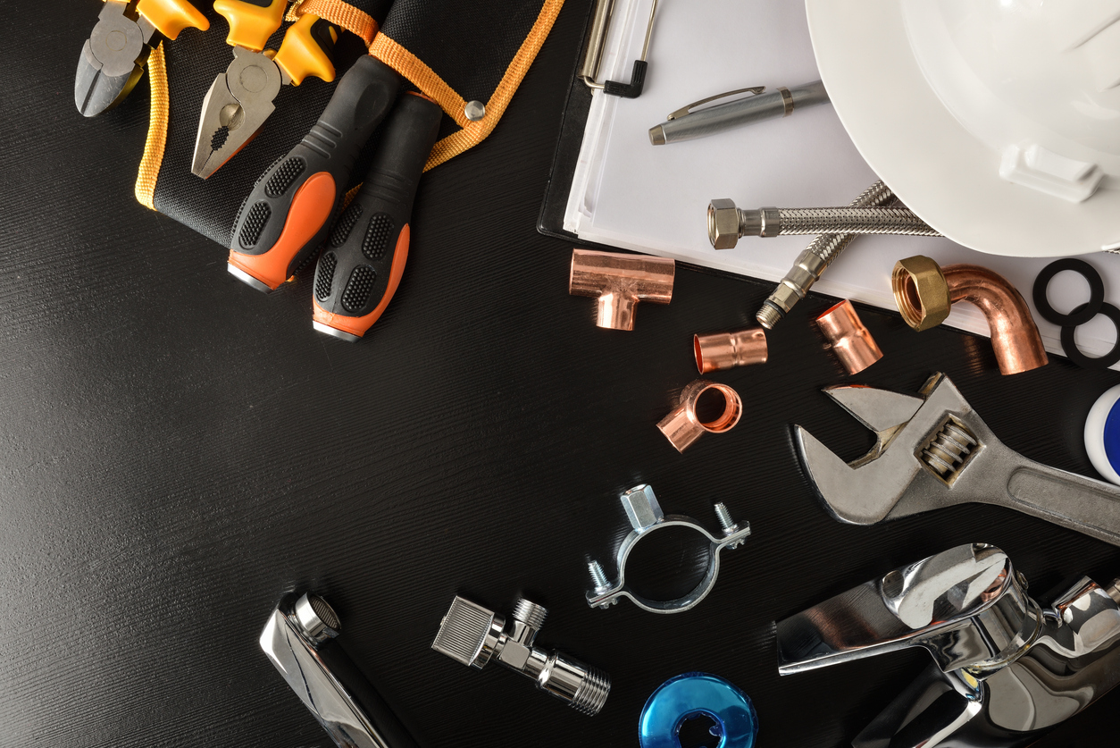
<path id="1" fill-rule="evenodd" d="M 505 113 L 506 107 L 510 105 L 514 92 L 524 80 L 525 73 L 529 72 L 530 65 L 536 58 L 536 53 L 541 50 L 544 39 L 552 30 L 552 24 L 556 22 L 562 7 L 563 0 L 544 0 L 533 28 L 530 29 L 525 40 L 521 43 L 521 48 L 517 49 L 517 54 L 506 67 L 502 81 L 491 95 L 491 100 L 486 102 L 486 116 L 477 122 L 467 119 L 463 111 L 467 102 L 433 70 L 384 34 L 377 35 L 377 38 L 370 45 L 370 54 L 407 77 L 424 94 L 435 99 L 447 116 L 463 128 L 436 144 L 436 147 L 431 149 L 431 155 L 428 156 L 428 163 L 424 164 L 424 172 L 478 145 L 494 131 L 502 114 Z"/>

